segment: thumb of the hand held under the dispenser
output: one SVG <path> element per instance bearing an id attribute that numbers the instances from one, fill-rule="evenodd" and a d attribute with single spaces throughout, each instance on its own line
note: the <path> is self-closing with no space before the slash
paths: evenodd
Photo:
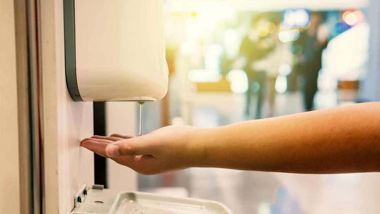
<path id="1" fill-rule="evenodd" d="M 147 155 L 153 151 L 149 138 L 138 136 L 130 139 L 122 139 L 108 144 L 106 155 L 108 157 Z"/>

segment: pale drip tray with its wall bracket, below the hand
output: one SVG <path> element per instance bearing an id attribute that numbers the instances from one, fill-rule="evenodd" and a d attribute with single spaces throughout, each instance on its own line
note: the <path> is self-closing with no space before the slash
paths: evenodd
<path id="1" fill-rule="evenodd" d="M 232 214 L 225 205 L 210 200 L 94 188 L 87 194 L 71 214 Z"/>

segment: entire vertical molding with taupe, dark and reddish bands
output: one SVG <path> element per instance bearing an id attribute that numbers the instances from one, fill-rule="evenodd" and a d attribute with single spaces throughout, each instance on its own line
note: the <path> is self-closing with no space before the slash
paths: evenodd
<path id="1" fill-rule="evenodd" d="M 20 212 L 44 212 L 40 1 L 14 1 Z"/>

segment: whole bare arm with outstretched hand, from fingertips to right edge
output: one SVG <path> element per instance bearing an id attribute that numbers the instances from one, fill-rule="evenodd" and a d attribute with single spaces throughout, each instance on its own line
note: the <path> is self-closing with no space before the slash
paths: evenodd
<path id="1" fill-rule="evenodd" d="M 380 171 L 380 103 L 216 128 L 169 126 L 123 138 L 93 136 L 84 139 L 82 146 L 142 174 L 188 167 L 315 174 L 373 172 Z"/>

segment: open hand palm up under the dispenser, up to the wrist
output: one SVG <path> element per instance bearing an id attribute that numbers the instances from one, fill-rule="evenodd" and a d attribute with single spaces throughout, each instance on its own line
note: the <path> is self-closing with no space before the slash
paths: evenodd
<path id="1" fill-rule="evenodd" d="M 198 128 L 167 126 L 138 137 L 113 134 L 85 138 L 81 146 L 151 175 L 202 166 L 204 147 L 195 141 Z"/>

